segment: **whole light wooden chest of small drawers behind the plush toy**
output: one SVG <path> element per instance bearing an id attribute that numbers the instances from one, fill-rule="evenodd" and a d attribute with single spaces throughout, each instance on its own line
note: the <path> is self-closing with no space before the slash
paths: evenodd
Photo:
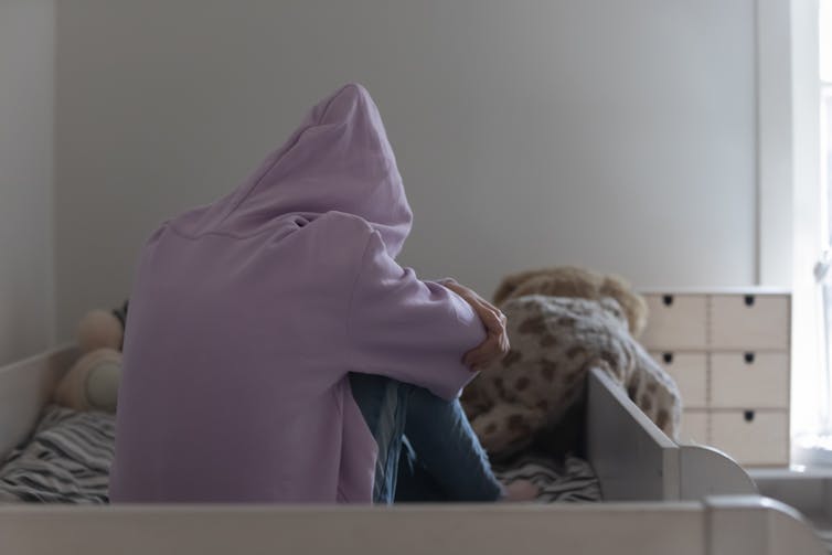
<path id="1" fill-rule="evenodd" d="M 641 343 L 675 378 L 681 439 L 746 466 L 789 463 L 791 296 L 743 288 L 643 290 Z"/>

